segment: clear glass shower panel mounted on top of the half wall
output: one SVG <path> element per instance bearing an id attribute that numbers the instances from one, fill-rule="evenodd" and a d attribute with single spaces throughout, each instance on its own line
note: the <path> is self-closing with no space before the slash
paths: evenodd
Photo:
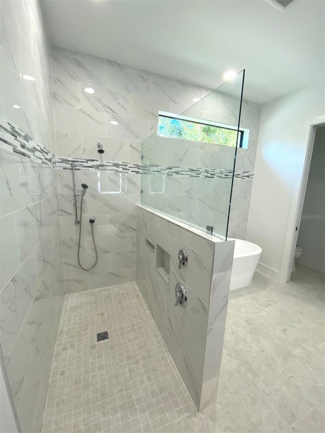
<path id="1" fill-rule="evenodd" d="M 244 71 L 182 113 L 159 112 L 142 143 L 144 206 L 226 239 Z"/>

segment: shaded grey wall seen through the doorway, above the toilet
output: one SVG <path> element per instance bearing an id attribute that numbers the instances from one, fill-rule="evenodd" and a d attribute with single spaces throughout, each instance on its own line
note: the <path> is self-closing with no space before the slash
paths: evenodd
<path id="1" fill-rule="evenodd" d="M 325 126 L 316 128 L 298 245 L 299 263 L 325 273 Z M 315 216 L 316 215 L 316 216 Z"/>

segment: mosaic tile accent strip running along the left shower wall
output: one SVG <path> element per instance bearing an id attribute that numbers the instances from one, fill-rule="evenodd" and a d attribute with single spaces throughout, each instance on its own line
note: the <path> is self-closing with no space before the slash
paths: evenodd
<path id="1" fill-rule="evenodd" d="M 0 121 L 0 146 L 42 164 L 55 166 L 55 155 L 53 153 L 4 118 Z"/>

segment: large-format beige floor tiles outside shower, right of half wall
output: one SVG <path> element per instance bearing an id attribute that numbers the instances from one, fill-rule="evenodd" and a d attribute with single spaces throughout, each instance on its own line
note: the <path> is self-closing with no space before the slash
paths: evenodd
<path id="1" fill-rule="evenodd" d="M 231 293 L 216 403 L 224 416 L 206 431 L 323 431 L 325 286 L 321 292 L 316 271 L 299 265 L 297 271 L 289 284 L 255 274 L 240 296 Z M 260 309 L 252 314 L 255 304 Z M 315 312 L 306 317 L 307 310 Z"/>

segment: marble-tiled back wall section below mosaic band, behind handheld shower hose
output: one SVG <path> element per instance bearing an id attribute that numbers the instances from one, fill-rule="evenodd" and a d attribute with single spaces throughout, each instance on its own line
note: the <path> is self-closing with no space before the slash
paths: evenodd
<path id="1" fill-rule="evenodd" d="M 89 185 L 83 200 L 81 262 L 89 268 L 94 247 L 89 218 L 94 217 L 94 237 L 98 263 L 83 271 L 77 262 L 80 226 L 74 220 L 71 170 L 59 170 L 60 219 L 64 276 L 69 293 L 135 280 L 136 203 L 140 191 L 139 174 L 110 170 L 76 170 L 79 193 L 81 183 Z M 78 201 L 78 215 L 80 197 Z"/>

